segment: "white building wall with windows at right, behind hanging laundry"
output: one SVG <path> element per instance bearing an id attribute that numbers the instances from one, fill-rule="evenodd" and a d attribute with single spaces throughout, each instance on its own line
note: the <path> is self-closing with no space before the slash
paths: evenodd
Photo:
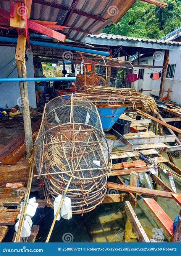
<path id="1" fill-rule="evenodd" d="M 159 55 L 160 58 L 158 60 L 155 59 L 155 66 L 163 66 L 163 58 L 164 58 L 164 52 L 160 52 Z M 140 60 L 148 60 L 147 65 L 153 65 L 153 57 L 145 57 L 140 58 Z M 134 64 L 137 64 L 138 59 L 134 61 Z M 176 64 L 175 67 L 175 74 L 174 79 L 166 79 L 165 81 L 165 91 L 167 91 L 169 88 L 171 89 L 170 92 L 170 100 L 173 102 L 181 103 L 181 50 L 170 50 L 169 54 L 169 62 L 168 64 Z M 144 67 L 143 67 L 144 68 Z M 135 68 L 138 70 L 139 68 Z M 150 78 L 150 73 L 156 73 L 162 71 L 162 68 L 144 68 L 144 79 L 143 80 L 137 80 L 134 82 L 134 87 L 139 91 L 139 89 L 143 90 L 159 90 L 160 89 L 160 82 L 161 78 L 159 78 L 157 81 L 154 81 Z M 150 95 L 150 92 L 144 91 L 145 94 Z M 155 92 L 152 91 L 152 94 L 159 96 L 159 91 Z M 164 96 L 166 97 L 167 92 L 164 92 Z"/>

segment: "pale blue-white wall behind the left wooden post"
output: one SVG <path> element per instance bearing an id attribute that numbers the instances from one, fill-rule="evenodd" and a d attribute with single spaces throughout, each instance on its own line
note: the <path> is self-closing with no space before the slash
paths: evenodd
<path id="1" fill-rule="evenodd" d="M 10 74 L 10 76 L 8 76 L 8 78 L 18 78 L 16 61 L 13 59 L 15 58 L 15 47 L 0 46 L 0 56 L 1 78 L 6 78 L 12 71 L 13 72 Z M 33 54 L 31 52 L 27 52 L 27 57 L 27 77 L 31 78 L 34 77 Z M 9 63 L 9 61 L 11 62 Z M 9 64 L 5 66 L 7 63 Z M 33 81 L 28 82 L 28 96 L 30 107 L 36 108 L 36 92 L 35 84 Z M 21 104 L 20 97 L 18 82 L 3 82 L 0 84 L 0 108 L 5 108 L 7 105 L 8 108 L 11 109 L 15 105 Z"/>

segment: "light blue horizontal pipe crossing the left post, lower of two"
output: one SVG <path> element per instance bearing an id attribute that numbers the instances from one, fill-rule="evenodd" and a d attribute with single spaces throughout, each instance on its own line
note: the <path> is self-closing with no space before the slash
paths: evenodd
<path id="1" fill-rule="evenodd" d="M 75 81 L 76 77 L 0 78 L 0 82 Z"/>

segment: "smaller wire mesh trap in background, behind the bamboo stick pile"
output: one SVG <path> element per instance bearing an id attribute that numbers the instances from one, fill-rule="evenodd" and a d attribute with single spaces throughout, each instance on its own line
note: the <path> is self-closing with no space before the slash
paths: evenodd
<path id="1" fill-rule="evenodd" d="M 85 85 L 131 88 L 131 81 L 136 79 L 129 61 L 80 52 L 76 56 L 76 71 L 77 88 Z"/>

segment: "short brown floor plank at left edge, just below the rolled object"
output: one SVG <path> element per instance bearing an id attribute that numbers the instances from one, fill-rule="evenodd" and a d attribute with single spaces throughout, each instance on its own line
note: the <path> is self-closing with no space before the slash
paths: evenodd
<path id="1" fill-rule="evenodd" d="M 0 206 L 17 206 L 21 203 L 26 188 L 0 188 Z"/>

